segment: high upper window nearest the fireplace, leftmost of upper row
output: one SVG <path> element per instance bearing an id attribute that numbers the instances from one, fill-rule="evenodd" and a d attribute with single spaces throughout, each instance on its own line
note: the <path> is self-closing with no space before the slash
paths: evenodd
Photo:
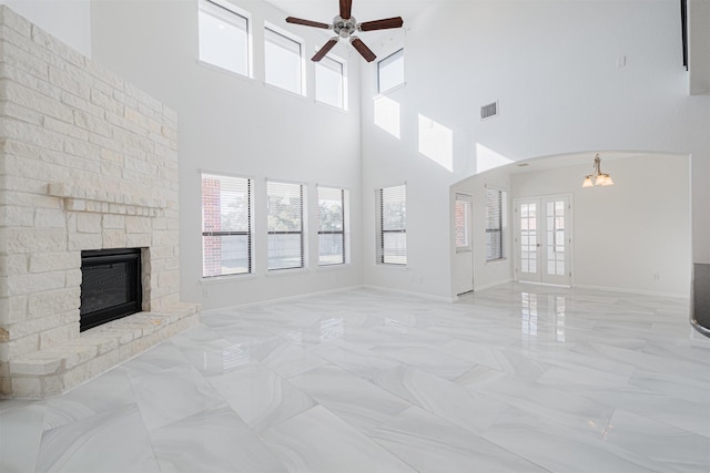
<path id="1" fill-rule="evenodd" d="M 248 75 L 248 20 L 219 0 L 201 0 L 200 60 Z"/>

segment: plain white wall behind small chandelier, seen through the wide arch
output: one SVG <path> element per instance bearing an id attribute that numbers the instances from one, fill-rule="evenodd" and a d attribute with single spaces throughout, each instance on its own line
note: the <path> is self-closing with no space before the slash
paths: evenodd
<path id="1" fill-rule="evenodd" d="M 515 174 L 514 198 L 572 196 L 575 286 L 688 297 L 688 156 L 602 157 L 602 171 L 615 185 L 582 188 L 591 160 L 582 166 Z"/>

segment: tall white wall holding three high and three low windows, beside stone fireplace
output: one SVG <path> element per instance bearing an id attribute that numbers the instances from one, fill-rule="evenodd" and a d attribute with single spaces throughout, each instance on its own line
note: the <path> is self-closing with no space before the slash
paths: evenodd
<path id="1" fill-rule="evenodd" d="M 101 0 L 92 4 L 94 59 L 179 114 L 182 297 L 209 309 L 359 285 L 358 68 L 348 68 L 348 112 L 314 103 L 311 61 L 307 97 L 264 85 L 263 22 L 286 28 L 286 16 L 263 2 L 235 3 L 252 16 L 254 79 L 199 63 L 196 0 Z M 306 40 L 306 51 L 315 51 L 327 39 L 314 29 L 293 27 L 291 31 Z M 255 178 L 256 277 L 201 282 L 201 169 Z M 317 220 L 312 212 L 312 269 L 266 275 L 267 177 L 303 182 L 311 198 L 316 183 L 349 189 L 352 265 L 313 269 L 317 266 Z"/>

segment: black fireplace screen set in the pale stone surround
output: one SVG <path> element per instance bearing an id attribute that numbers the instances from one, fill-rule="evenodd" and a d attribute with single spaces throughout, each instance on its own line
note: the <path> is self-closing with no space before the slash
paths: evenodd
<path id="1" fill-rule="evenodd" d="M 81 251 L 81 331 L 141 311 L 140 248 Z"/>

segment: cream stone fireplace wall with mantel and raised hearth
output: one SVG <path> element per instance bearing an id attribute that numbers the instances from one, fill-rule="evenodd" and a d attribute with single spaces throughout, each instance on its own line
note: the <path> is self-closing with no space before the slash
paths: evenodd
<path id="1" fill-rule="evenodd" d="M 63 392 L 197 320 L 178 116 L 0 7 L 0 392 Z M 143 312 L 79 332 L 81 250 L 142 248 Z"/>

